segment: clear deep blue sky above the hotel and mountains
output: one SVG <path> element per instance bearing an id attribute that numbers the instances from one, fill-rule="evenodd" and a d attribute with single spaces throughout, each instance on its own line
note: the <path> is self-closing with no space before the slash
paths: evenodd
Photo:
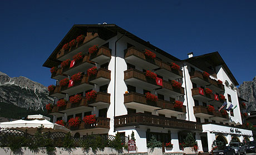
<path id="1" fill-rule="evenodd" d="M 0 72 L 48 86 L 42 67 L 73 24 L 115 23 L 180 59 L 218 51 L 242 84 L 256 76 L 256 1 L 6 1 Z"/>

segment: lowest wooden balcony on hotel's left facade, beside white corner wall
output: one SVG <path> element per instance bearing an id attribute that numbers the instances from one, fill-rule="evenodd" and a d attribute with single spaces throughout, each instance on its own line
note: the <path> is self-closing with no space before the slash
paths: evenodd
<path id="1" fill-rule="evenodd" d="M 76 131 L 76 130 L 83 130 L 83 129 L 109 129 L 109 124 L 110 124 L 110 118 L 105 118 L 105 117 L 97 117 L 96 122 L 93 124 L 85 124 L 85 122 L 81 122 L 80 126 L 78 127 L 70 127 L 67 126 L 68 129 L 71 131 Z"/>

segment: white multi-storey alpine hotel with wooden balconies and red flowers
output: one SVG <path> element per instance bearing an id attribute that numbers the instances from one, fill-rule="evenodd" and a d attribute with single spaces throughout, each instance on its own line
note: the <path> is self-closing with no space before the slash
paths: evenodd
<path id="1" fill-rule="evenodd" d="M 67 128 L 75 137 L 134 131 L 138 152 L 147 152 L 152 135 L 174 145 L 165 152 L 182 152 L 188 132 L 204 152 L 215 139 L 252 141 L 242 123 L 238 82 L 220 54 L 189 53 L 180 60 L 169 53 L 115 24 L 74 25 L 43 64 L 56 79 L 48 113 L 53 122 L 71 119 Z M 230 104 L 237 107 L 225 111 Z"/>

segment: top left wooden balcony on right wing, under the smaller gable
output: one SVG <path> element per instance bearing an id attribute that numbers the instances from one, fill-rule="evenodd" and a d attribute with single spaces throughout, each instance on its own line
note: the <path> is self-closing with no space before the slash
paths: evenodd
<path id="1" fill-rule="evenodd" d="M 194 83 L 200 83 L 201 86 L 206 86 L 210 84 L 210 78 L 205 78 L 202 72 L 194 71 L 190 72 L 189 74 L 191 81 Z"/>

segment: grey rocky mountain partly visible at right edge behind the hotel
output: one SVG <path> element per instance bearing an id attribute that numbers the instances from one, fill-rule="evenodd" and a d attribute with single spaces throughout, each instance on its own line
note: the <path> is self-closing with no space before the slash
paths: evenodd
<path id="1" fill-rule="evenodd" d="M 238 88 L 238 96 L 247 100 L 247 111 L 256 111 L 256 77 L 253 81 L 244 81 Z"/>

